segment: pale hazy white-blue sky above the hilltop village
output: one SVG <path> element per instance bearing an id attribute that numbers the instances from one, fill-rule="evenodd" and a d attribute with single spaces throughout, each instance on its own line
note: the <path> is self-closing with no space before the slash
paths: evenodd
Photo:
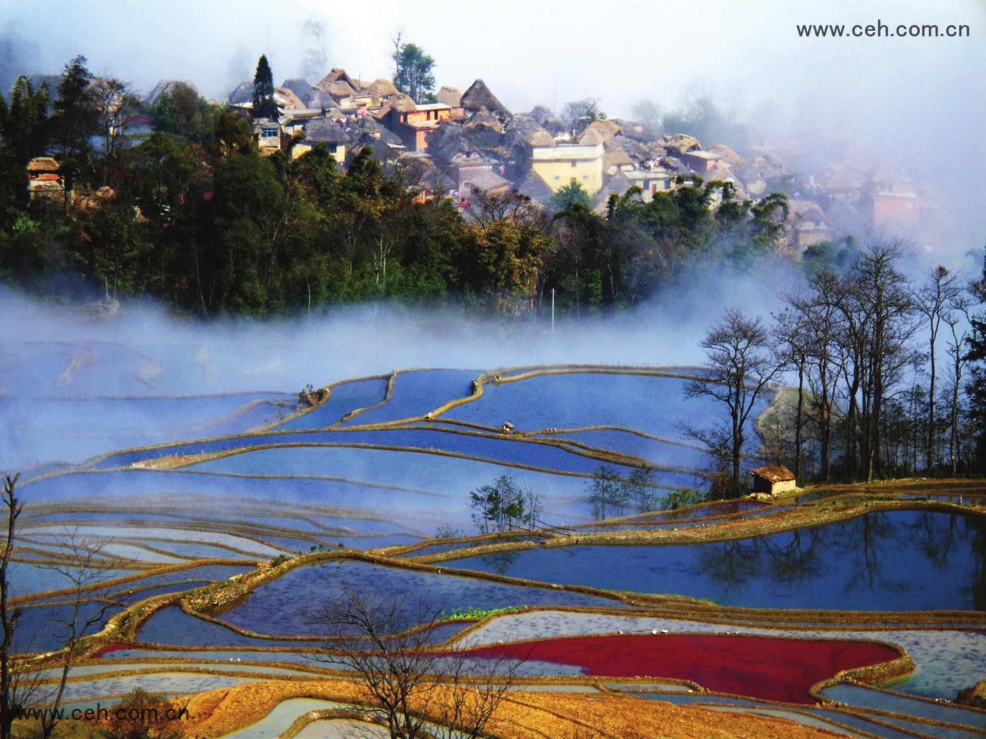
<path id="1" fill-rule="evenodd" d="M 515 111 L 593 96 L 626 115 L 641 98 L 667 109 L 708 93 L 769 133 L 846 133 L 875 159 L 949 180 L 969 238 L 986 239 L 975 207 L 986 168 L 983 0 L 0 0 L 0 31 L 36 44 L 29 72 L 56 72 L 81 53 L 141 90 L 185 78 L 214 97 L 252 76 L 260 53 L 277 84 L 297 76 L 308 19 L 324 25 L 326 67 L 389 76 L 389 36 L 403 26 L 436 59 L 439 85 L 464 90 L 481 77 Z M 833 40 L 795 29 L 878 21 L 966 24 L 971 35 Z"/>

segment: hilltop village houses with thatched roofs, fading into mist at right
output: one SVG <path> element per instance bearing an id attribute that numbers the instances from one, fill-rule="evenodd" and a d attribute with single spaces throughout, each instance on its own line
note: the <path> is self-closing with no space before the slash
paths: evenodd
<path id="1" fill-rule="evenodd" d="M 173 84 L 159 83 L 148 103 Z M 248 111 L 251 97 L 252 84 L 245 82 L 227 104 Z M 886 167 L 858 171 L 832 165 L 853 159 L 833 151 L 831 140 L 807 138 L 786 151 L 749 147 L 742 157 L 723 144 L 703 148 L 686 134 L 653 139 L 641 123 L 619 118 L 596 119 L 576 131 L 543 105 L 512 113 L 482 80 L 464 92 L 443 87 L 435 102 L 415 103 L 389 80 L 366 82 L 341 68 L 316 85 L 285 80 L 274 98 L 276 119 L 252 118 L 262 154 L 282 151 L 297 158 L 324 143 L 345 167 L 370 147 L 389 167 L 405 176 L 413 173 L 408 184 L 423 198 L 450 196 L 463 209 L 476 190 L 517 190 L 550 210 L 552 195 L 575 180 L 602 211 L 609 195 L 622 195 L 634 185 L 649 201 L 675 187 L 679 175 L 685 180 L 697 175 L 732 182 L 740 199 L 788 192 L 792 246 L 799 248 L 872 227 L 914 228 L 921 219 L 913 180 Z M 33 196 L 63 190 L 50 158 L 32 162 L 29 178 Z"/>

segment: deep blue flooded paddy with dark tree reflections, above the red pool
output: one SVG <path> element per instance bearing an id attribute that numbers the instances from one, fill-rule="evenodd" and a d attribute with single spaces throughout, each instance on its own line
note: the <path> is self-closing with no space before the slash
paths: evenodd
<path id="1" fill-rule="evenodd" d="M 731 606 L 981 611 L 984 553 L 982 518 L 902 510 L 715 544 L 528 550 L 506 573 Z"/>

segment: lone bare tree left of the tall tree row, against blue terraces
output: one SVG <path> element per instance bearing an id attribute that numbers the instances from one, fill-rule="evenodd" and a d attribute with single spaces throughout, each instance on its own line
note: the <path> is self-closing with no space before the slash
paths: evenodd
<path id="1" fill-rule="evenodd" d="M 706 350 L 706 377 L 685 385 L 686 397 L 714 398 L 729 412 L 726 432 L 734 491 L 740 488 L 746 423 L 768 383 L 780 370 L 769 352 L 769 343 L 769 333 L 760 318 L 747 318 L 738 308 L 730 308 L 702 340 Z"/>

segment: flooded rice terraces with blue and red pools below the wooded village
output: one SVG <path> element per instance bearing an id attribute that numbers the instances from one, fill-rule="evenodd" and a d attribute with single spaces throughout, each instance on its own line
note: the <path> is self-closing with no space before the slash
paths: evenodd
<path id="1" fill-rule="evenodd" d="M 289 388 L 216 392 L 207 357 L 176 357 L 0 350 L 0 450 L 27 501 L 16 648 L 57 651 L 78 603 L 72 705 L 137 686 L 265 691 L 264 714 L 224 734 L 238 739 L 353 708 L 315 697 L 339 675 L 314 659 L 328 636 L 313 614 L 358 590 L 396 597 L 402 628 L 427 603 L 441 617 L 425 643 L 480 672 L 521 658 L 530 695 L 546 685 L 557 705 L 601 690 L 849 736 L 986 735 L 986 711 L 941 703 L 983 677 L 982 490 L 672 504 L 708 475 L 680 431 L 717 413 L 684 397 L 695 368 L 318 377 L 327 399 L 309 408 Z M 753 466 L 752 423 L 748 437 Z M 610 504 L 599 520 L 600 465 L 624 482 L 649 469 L 646 509 Z M 501 476 L 539 509 L 477 536 L 470 493 Z M 297 736 L 353 720 L 326 714 Z"/>

